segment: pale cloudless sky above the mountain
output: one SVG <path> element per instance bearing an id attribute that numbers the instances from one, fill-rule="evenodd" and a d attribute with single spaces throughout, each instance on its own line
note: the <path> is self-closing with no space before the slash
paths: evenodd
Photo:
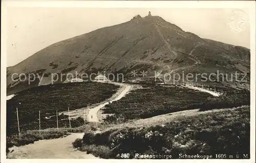
<path id="1" fill-rule="evenodd" d="M 137 14 L 144 17 L 148 11 L 201 38 L 250 48 L 249 26 L 236 33 L 228 24 L 233 9 L 9 7 L 7 66 L 55 42 L 129 21 Z"/>

